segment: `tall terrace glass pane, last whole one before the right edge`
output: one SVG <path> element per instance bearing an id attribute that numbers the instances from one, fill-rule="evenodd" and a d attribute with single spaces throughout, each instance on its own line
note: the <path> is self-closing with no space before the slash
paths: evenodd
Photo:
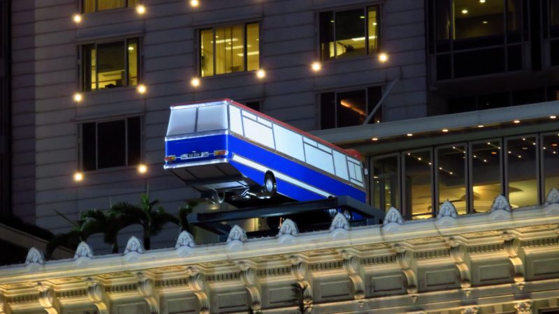
<path id="1" fill-rule="evenodd" d="M 507 140 L 507 180 L 511 207 L 538 204 L 536 137 Z"/>

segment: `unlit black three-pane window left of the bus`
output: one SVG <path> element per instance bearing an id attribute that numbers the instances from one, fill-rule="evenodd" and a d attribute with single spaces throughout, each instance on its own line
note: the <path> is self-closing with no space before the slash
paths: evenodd
<path id="1" fill-rule="evenodd" d="M 82 124 L 82 169 L 137 165 L 141 159 L 141 132 L 140 117 Z"/>

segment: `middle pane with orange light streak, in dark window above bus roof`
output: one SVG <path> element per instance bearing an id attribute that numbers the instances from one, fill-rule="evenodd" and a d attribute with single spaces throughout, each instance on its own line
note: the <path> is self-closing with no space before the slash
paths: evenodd
<path id="1" fill-rule="evenodd" d="M 361 91 L 346 91 L 337 93 L 337 124 L 338 128 L 344 126 L 358 126 L 367 118 L 367 102 L 365 89 Z"/>

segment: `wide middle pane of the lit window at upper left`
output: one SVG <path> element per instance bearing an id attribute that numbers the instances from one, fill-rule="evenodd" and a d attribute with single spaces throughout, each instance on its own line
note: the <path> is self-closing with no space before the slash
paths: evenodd
<path id="1" fill-rule="evenodd" d="M 126 84 L 124 41 L 98 45 L 97 54 L 99 89 L 124 86 Z"/>

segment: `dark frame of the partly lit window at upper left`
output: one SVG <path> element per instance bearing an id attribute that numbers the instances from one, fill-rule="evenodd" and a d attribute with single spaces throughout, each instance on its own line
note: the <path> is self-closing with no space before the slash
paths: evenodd
<path id="1" fill-rule="evenodd" d="M 136 85 L 130 85 L 129 81 L 130 81 L 130 63 L 129 63 L 129 57 L 128 57 L 128 45 L 129 45 L 129 41 L 130 40 L 137 40 L 138 43 L 138 54 L 137 54 L 137 65 L 136 67 L 138 68 L 138 79 L 137 79 L 137 84 Z M 98 49 L 97 46 L 98 45 L 105 45 L 105 44 L 110 44 L 110 43 L 124 43 L 124 71 L 126 72 L 126 84 L 123 86 L 119 86 L 119 87 L 115 87 L 112 89 L 99 89 L 99 71 L 97 70 L 97 66 L 99 65 L 99 53 L 98 53 Z M 87 64 L 87 61 L 85 60 L 85 49 L 88 46 L 94 45 L 95 47 L 95 73 L 97 75 L 97 80 L 96 80 L 96 89 L 86 89 L 85 85 L 86 85 L 86 69 L 85 66 Z M 80 43 L 80 45 L 78 46 L 79 49 L 79 57 L 80 57 L 80 61 L 78 63 L 79 66 L 79 73 L 80 73 L 80 80 L 79 80 L 79 84 L 80 84 L 80 91 L 84 92 L 84 93 L 91 93 L 91 92 L 99 92 L 99 91 L 104 91 L 104 90 L 114 90 L 114 89 L 126 89 L 128 87 L 136 87 L 139 84 L 142 84 L 143 81 L 143 38 L 141 36 L 137 36 L 137 37 L 126 37 L 126 38 L 111 38 L 111 39 L 107 39 L 107 40 L 99 40 L 96 41 L 94 43 Z M 91 75 L 91 70 L 89 70 L 89 75 Z"/>

